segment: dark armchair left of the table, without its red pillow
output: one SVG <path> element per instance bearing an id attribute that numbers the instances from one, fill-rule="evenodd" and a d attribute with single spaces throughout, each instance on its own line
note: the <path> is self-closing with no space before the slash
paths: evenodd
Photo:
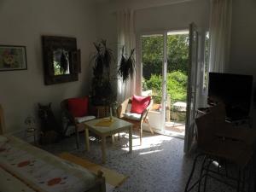
<path id="1" fill-rule="evenodd" d="M 65 99 L 61 102 L 61 111 L 63 118 L 67 119 L 65 127 L 63 127 L 64 134 L 67 132 L 69 126 L 74 126 L 75 133 L 76 133 L 76 143 L 77 148 L 79 148 L 79 131 L 84 131 L 84 122 L 92 119 L 96 119 L 94 115 L 88 115 L 84 117 L 74 117 L 72 113 L 68 110 L 68 99 Z M 89 109 L 89 113 L 92 110 Z"/>

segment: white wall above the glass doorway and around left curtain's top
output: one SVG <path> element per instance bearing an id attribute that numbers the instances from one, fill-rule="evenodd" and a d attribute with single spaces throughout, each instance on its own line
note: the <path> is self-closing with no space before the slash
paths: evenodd
<path id="1" fill-rule="evenodd" d="M 135 10 L 135 31 L 137 33 L 189 28 L 191 22 L 195 22 L 200 28 L 208 27 L 209 2 L 206 0 L 147 2 L 144 0 L 113 0 L 110 3 L 98 3 L 97 37 L 108 39 L 109 44 L 115 49 L 118 44 L 115 12 L 127 8 Z"/>

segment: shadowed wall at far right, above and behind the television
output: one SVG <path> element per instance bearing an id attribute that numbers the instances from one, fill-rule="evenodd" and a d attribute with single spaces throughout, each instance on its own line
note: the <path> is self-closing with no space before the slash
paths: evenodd
<path id="1" fill-rule="evenodd" d="M 230 73 L 253 75 L 256 88 L 256 2 L 233 0 L 232 32 L 230 44 Z M 256 119 L 256 108 L 251 108 Z M 256 122 L 253 120 L 253 128 Z"/>

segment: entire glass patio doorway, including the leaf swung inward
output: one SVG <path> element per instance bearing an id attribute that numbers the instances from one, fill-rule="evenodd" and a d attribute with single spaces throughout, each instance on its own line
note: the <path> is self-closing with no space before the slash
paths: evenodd
<path id="1" fill-rule="evenodd" d="M 160 133 L 185 137 L 194 133 L 198 32 L 189 30 L 140 35 L 143 96 L 152 96 L 149 123 Z"/>

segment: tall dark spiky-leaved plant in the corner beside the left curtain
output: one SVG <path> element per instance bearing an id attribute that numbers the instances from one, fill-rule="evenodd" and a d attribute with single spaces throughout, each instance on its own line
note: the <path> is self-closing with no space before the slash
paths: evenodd
<path id="1" fill-rule="evenodd" d="M 110 74 L 110 67 L 115 61 L 113 50 L 109 49 L 106 40 L 101 40 L 99 43 L 94 43 L 96 52 L 91 55 L 90 63 L 93 64 L 93 79 L 91 83 L 91 100 L 96 106 L 108 105 L 110 106 L 115 101 L 115 91 L 113 90 Z M 134 49 L 131 54 L 126 57 L 124 47 L 122 49 L 122 56 L 119 62 L 117 73 L 123 82 L 132 78 L 135 71 Z M 116 75 L 114 75 L 116 76 Z"/>

